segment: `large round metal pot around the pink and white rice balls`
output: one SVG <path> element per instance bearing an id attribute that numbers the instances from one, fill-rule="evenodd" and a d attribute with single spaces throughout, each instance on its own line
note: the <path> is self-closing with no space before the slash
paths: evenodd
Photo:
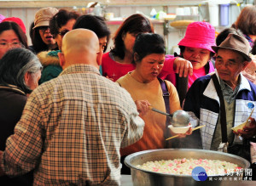
<path id="1" fill-rule="evenodd" d="M 159 172 L 148 172 L 143 169 L 137 168 L 137 165 L 142 165 L 147 161 L 160 161 L 160 160 L 173 160 L 175 158 L 193 158 L 193 159 L 209 159 L 209 160 L 219 160 L 219 161 L 229 161 L 231 163 L 236 163 L 241 168 L 246 169 L 250 166 L 250 163 L 237 156 L 230 155 L 227 153 L 222 153 L 212 150 L 204 149 L 151 149 L 137 152 L 128 155 L 125 158 L 125 165 L 131 168 L 131 178 L 133 185 L 143 186 L 143 185 L 220 185 L 221 182 L 214 182 L 217 178 L 229 178 L 228 175 L 223 176 L 212 176 L 212 180 L 207 178 L 206 181 L 200 182 L 195 181 L 192 176 L 186 175 L 175 175 L 175 174 L 165 174 Z M 233 177 L 238 178 L 236 174 Z M 242 177 L 242 175 L 240 176 Z M 219 180 L 219 179 L 218 179 Z M 239 180 L 239 178 L 238 178 Z M 223 182 L 224 183 L 224 182 Z"/>

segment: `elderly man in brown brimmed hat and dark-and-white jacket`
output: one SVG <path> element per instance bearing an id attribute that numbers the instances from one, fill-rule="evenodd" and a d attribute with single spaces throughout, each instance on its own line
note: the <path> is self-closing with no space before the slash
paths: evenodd
<path id="1" fill-rule="evenodd" d="M 186 95 L 183 110 L 189 112 L 194 127 L 206 125 L 201 128 L 203 149 L 228 151 L 249 160 L 248 138 L 256 135 L 253 119 L 256 113 L 253 112 L 243 130 L 232 132 L 231 127 L 246 121 L 256 104 L 256 86 L 241 74 L 252 60 L 250 45 L 246 38 L 230 34 L 212 49 L 216 52 L 215 73 L 194 82 Z M 195 134 L 187 140 L 195 138 Z"/>

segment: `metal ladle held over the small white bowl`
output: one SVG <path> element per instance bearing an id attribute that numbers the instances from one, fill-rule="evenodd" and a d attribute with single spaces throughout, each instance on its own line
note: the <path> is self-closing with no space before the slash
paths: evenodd
<path id="1" fill-rule="evenodd" d="M 151 110 L 162 115 L 169 116 L 173 127 L 186 127 L 189 125 L 189 114 L 184 110 L 176 110 L 173 115 L 163 112 L 161 110 L 149 107 Z"/>

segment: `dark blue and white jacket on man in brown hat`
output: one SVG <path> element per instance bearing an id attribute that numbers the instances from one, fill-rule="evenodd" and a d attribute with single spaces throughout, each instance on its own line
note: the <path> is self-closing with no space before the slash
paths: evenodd
<path id="1" fill-rule="evenodd" d="M 216 74 L 218 76 L 217 72 Z M 243 122 L 242 118 L 244 118 L 245 115 L 250 115 L 252 109 L 248 107 L 248 103 L 256 105 L 256 86 L 241 74 L 240 76 L 241 86 L 236 96 L 233 125 L 235 127 Z M 201 128 L 202 148 L 210 149 L 219 114 L 218 94 L 210 75 L 201 76 L 189 88 L 183 110 L 189 112 L 190 123 L 194 127 L 206 125 L 206 127 Z M 252 117 L 256 118 L 256 112 L 253 112 Z M 231 129 L 228 128 L 228 130 Z M 242 144 L 242 139 L 235 136 L 234 143 Z"/>

